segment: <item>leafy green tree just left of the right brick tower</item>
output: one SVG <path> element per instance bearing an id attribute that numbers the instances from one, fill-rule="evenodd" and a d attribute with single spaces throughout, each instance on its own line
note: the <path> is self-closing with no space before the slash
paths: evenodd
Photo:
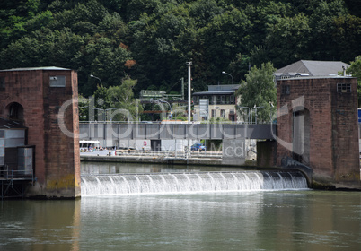
<path id="1" fill-rule="evenodd" d="M 270 114 L 275 111 L 275 108 L 272 107 L 272 105 L 276 107 L 277 101 L 273 76 L 275 71 L 276 69 L 270 62 L 260 65 L 260 68 L 251 67 L 250 73 L 245 76 L 246 80 L 242 81 L 240 88 L 235 92 L 237 97 L 241 96 L 239 111 L 244 114 L 240 107 L 250 108 L 248 111 L 252 114 L 253 122 L 256 117 L 258 123 L 269 122 Z M 245 118 L 244 121 L 247 119 Z"/>

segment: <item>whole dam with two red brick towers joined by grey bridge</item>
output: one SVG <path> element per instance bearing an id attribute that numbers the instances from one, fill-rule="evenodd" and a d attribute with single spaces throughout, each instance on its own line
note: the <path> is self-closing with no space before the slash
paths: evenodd
<path id="1" fill-rule="evenodd" d="M 112 146 L 119 139 L 218 139 L 223 141 L 225 164 L 232 165 L 244 163 L 244 140 L 256 139 L 260 168 L 299 169 L 312 187 L 361 187 L 356 78 L 277 81 L 277 124 L 269 125 L 79 124 L 77 98 L 77 73 L 71 69 L 50 66 L 0 71 L 2 198 L 9 184 L 22 187 L 22 197 L 47 199 L 74 199 L 83 194 L 85 182 L 97 184 L 81 177 L 79 139 L 98 139 Z M 8 129 L 12 131 L 5 132 Z M 13 138 L 16 130 L 22 130 L 17 134 L 21 138 Z M 15 172 L 22 174 L 16 177 L 22 181 L 8 175 Z M 199 176 L 195 180 L 201 183 Z M 134 178 L 149 180 L 149 186 L 165 186 L 167 178 L 181 184 L 195 176 L 157 177 L 163 183 L 145 177 Z M 220 181 L 229 175 L 211 177 L 209 181 L 218 177 Z M 258 174 L 257 178 L 267 177 Z M 116 178 L 120 177 L 109 178 L 110 183 Z M 241 182 L 242 178 L 237 178 Z M 128 177 L 121 179 L 129 183 Z"/>

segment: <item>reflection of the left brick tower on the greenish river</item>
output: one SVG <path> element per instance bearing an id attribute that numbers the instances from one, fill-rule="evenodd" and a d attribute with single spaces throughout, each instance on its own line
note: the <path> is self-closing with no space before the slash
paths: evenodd
<path id="1" fill-rule="evenodd" d="M 4 201 L 0 250 L 80 250 L 80 200 Z"/>

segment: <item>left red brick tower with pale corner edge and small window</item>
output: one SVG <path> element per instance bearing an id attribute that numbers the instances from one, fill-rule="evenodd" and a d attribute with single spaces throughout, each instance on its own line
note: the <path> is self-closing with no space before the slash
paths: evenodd
<path id="1" fill-rule="evenodd" d="M 0 71 L 0 117 L 28 128 L 35 146 L 34 186 L 26 196 L 80 196 L 77 74 L 58 67 Z"/>

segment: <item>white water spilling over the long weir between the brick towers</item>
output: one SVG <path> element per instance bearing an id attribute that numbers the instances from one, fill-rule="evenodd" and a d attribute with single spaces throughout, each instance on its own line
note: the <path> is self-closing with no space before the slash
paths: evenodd
<path id="1" fill-rule="evenodd" d="M 305 189 L 300 172 L 240 171 L 82 176 L 82 195 Z"/>

